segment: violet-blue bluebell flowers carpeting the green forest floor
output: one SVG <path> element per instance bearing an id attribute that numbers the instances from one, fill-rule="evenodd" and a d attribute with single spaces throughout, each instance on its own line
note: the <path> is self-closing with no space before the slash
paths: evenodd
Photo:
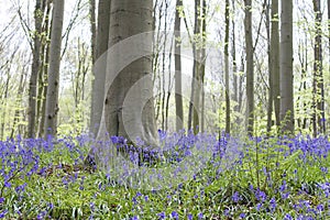
<path id="1" fill-rule="evenodd" d="M 182 162 L 186 156 L 191 154 L 193 147 L 201 147 L 202 145 L 207 145 L 212 151 L 212 157 L 210 158 L 212 162 L 213 167 L 219 166 L 219 160 L 224 158 L 229 151 L 229 147 L 234 148 L 233 146 L 238 146 L 241 143 L 235 140 L 231 140 L 227 135 L 221 135 L 220 139 L 216 138 L 215 135 L 208 134 L 197 134 L 195 135 L 191 131 L 185 132 L 180 131 L 178 133 L 174 133 L 172 135 L 167 134 L 164 131 L 158 131 L 160 135 L 160 143 L 162 144 L 162 152 L 154 151 L 152 148 L 144 147 L 144 143 L 142 140 L 136 141 L 136 146 L 128 141 L 124 138 L 120 136 L 111 136 L 110 141 L 112 144 L 117 145 L 118 151 L 125 151 L 129 152 L 129 158 L 135 164 L 143 165 L 143 163 L 147 162 L 147 164 L 157 163 L 161 157 L 165 157 L 167 163 L 178 163 Z M 260 144 L 261 147 L 263 146 L 263 139 L 255 138 L 252 139 L 254 143 Z M 48 167 L 52 166 L 50 164 L 42 164 L 41 154 L 42 153 L 50 153 L 52 154 L 53 151 L 58 151 L 58 146 L 67 150 L 73 155 L 75 155 L 75 164 L 79 164 L 84 160 L 84 153 L 80 146 L 82 145 L 91 145 L 94 141 L 89 139 L 87 135 L 81 135 L 78 138 L 69 138 L 65 136 L 62 139 L 56 140 L 56 147 L 54 144 L 54 140 L 48 136 L 47 140 L 43 139 L 28 139 L 23 140 L 21 136 L 18 136 L 15 140 L 8 139 L 4 142 L 0 142 L 0 174 L 1 174 L 1 195 L 0 195 L 0 206 L 4 204 L 4 198 L 8 194 L 15 193 L 18 195 L 24 195 L 24 191 L 28 188 L 28 183 L 20 183 L 15 184 L 14 179 L 22 177 L 31 177 L 33 175 L 44 174 Z M 300 152 L 299 157 L 302 162 L 307 163 L 310 160 L 318 162 L 323 158 L 328 158 L 329 151 L 330 151 L 330 143 L 327 138 L 318 138 L 312 139 L 310 136 L 302 138 L 296 136 L 295 139 L 283 139 L 278 140 L 277 144 L 283 146 L 279 148 L 286 157 L 289 157 L 296 152 Z M 239 156 L 234 157 L 237 165 L 243 163 L 244 157 L 251 156 L 251 151 L 240 152 L 238 148 L 237 153 Z M 312 161 L 311 161 L 312 162 Z M 279 162 L 280 163 L 280 162 Z M 62 165 L 59 165 L 62 166 Z M 221 173 L 220 169 L 217 169 L 217 175 Z M 263 169 L 264 175 L 271 175 L 272 170 Z M 322 165 L 319 167 L 319 170 L 327 176 L 328 175 L 328 167 Z M 297 173 L 297 172 L 296 172 Z M 285 177 L 285 176 L 284 176 Z M 280 202 L 284 200 L 289 200 L 289 195 L 293 194 L 290 191 L 289 182 L 286 178 L 280 179 L 282 183 L 276 188 L 277 195 L 268 194 L 268 191 L 253 188 L 251 185 L 250 190 L 253 193 L 253 196 L 256 200 L 255 202 L 255 210 L 257 211 L 270 211 L 271 213 L 275 213 L 280 206 Z M 109 177 L 110 178 L 110 177 Z M 75 183 L 77 176 L 72 177 L 63 177 L 63 184 L 66 188 L 69 187 L 70 183 Z M 196 180 L 196 178 L 195 178 Z M 271 179 L 268 179 L 271 180 Z M 79 188 L 80 190 L 85 190 L 85 178 L 80 179 Z M 99 185 L 99 189 L 105 190 L 103 185 Z M 292 216 L 290 213 L 286 213 L 284 219 L 307 219 L 312 217 L 318 217 L 318 215 L 324 215 L 327 210 L 329 210 L 329 199 L 330 199 L 330 184 L 329 182 L 324 183 L 317 183 L 319 189 L 319 197 L 323 198 L 322 202 L 317 205 L 311 205 L 308 200 L 299 200 L 296 202 L 290 201 L 290 208 L 296 210 L 298 216 Z M 204 191 L 202 191 L 204 194 Z M 194 194 L 196 197 L 205 197 L 204 195 Z M 207 196 L 207 195 L 206 195 Z M 20 197 L 18 197 L 20 198 Z M 21 197 L 22 198 L 22 197 Z M 150 202 L 150 197 L 147 195 L 142 195 L 141 193 L 136 193 L 135 196 L 132 198 L 132 202 L 135 206 L 140 206 L 141 200 L 145 202 Z M 239 191 L 235 191 L 232 195 L 232 201 L 238 204 L 242 200 L 242 197 Z M 164 199 L 167 200 L 167 199 Z M 288 202 L 288 201 L 286 201 Z M 53 209 L 54 205 L 52 204 Z M 95 209 L 95 202 L 90 202 L 90 209 Z M 9 210 L 1 210 L 0 218 L 4 218 Z M 156 218 L 165 219 L 165 218 L 173 218 L 179 219 L 178 215 L 179 210 L 166 212 L 158 211 L 156 213 Z M 305 212 L 304 215 L 301 212 Z M 48 212 L 45 210 L 40 210 L 37 218 L 42 219 L 45 218 Z M 223 210 L 223 215 L 230 215 L 229 209 Z M 245 212 L 237 213 L 239 218 L 245 218 Z M 199 212 L 197 216 L 198 219 L 205 218 L 205 213 Z M 133 217 L 134 218 L 134 217 Z M 138 216 L 135 216 L 138 218 Z M 193 218 L 193 215 L 187 215 L 188 219 Z"/>

